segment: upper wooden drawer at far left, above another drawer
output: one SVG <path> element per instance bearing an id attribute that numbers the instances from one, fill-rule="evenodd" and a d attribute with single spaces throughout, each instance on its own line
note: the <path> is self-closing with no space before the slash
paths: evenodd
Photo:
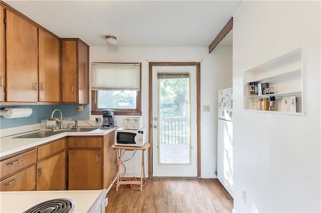
<path id="1" fill-rule="evenodd" d="M 33 149 L 25 153 L 10 157 L 0 162 L 1 178 L 19 169 L 35 163 L 37 160 L 37 150 Z"/>

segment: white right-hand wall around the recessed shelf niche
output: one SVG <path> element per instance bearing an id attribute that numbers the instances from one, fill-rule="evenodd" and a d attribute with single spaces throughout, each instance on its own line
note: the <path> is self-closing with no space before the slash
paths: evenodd
<path id="1" fill-rule="evenodd" d="M 243 1 L 233 17 L 234 209 L 320 212 L 320 1 Z M 300 46 L 306 116 L 243 111 L 243 70 Z"/>

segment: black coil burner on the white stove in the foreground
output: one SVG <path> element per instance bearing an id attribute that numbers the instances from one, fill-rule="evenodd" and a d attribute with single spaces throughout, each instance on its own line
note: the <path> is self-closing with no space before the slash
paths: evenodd
<path id="1" fill-rule="evenodd" d="M 56 198 L 41 202 L 23 213 L 67 213 L 75 209 L 75 201 L 69 198 Z"/>

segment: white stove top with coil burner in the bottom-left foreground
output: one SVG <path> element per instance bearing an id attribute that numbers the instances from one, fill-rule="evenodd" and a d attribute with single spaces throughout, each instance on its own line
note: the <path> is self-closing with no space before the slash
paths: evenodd
<path id="1" fill-rule="evenodd" d="M 107 190 L 2 191 L 0 212 L 105 213 Z M 41 204 L 41 206 L 39 205 Z M 37 206 L 37 211 L 30 211 Z M 41 210 L 40 210 L 41 209 Z M 29 210 L 29 211 L 27 211 Z"/>

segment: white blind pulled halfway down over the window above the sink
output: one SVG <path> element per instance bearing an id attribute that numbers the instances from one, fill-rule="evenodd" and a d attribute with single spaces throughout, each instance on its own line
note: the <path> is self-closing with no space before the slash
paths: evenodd
<path id="1" fill-rule="evenodd" d="M 140 90 L 140 63 L 92 63 L 91 74 L 92 90 Z"/>

